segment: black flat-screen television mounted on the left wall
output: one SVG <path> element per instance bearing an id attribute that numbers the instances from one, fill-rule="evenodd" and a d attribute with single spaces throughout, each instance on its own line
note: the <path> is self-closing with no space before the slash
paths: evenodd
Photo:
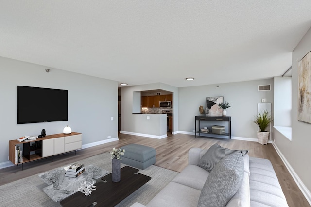
<path id="1" fill-rule="evenodd" d="M 17 86 L 17 124 L 67 120 L 67 90 Z"/>

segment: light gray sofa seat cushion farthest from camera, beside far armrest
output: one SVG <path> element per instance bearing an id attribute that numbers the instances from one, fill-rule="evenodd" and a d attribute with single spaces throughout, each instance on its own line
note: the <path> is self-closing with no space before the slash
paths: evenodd
<path id="1" fill-rule="evenodd" d="M 187 165 L 172 182 L 202 190 L 209 172 L 197 165 Z"/>

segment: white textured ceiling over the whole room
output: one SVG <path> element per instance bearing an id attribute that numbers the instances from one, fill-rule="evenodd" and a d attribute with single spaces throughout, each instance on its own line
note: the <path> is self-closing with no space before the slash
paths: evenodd
<path id="1" fill-rule="evenodd" d="M 310 27 L 310 0 L 0 0 L 0 56 L 199 86 L 282 75 Z"/>

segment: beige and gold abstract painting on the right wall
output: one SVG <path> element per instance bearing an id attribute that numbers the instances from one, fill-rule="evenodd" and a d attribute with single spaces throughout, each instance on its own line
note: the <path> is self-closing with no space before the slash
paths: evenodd
<path id="1" fill-rule="evenodd" d="M 311 123 L 311 51 L 298 62 L 298 121 Z"/>

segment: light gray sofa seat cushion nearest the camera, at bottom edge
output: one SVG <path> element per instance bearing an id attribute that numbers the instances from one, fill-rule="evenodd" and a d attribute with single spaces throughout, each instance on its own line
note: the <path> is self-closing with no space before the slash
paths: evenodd
<path id="1" fill-rule="evenodd" d="M 146 205 L 148 207 L 197 207 L 200 190 L 170 182 Z"/>

